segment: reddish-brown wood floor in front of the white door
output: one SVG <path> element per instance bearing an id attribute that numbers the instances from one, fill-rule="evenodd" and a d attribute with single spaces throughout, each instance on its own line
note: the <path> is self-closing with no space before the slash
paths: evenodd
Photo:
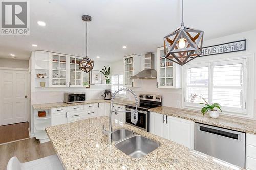
<path id="1" fill-rule="evenodd" d="M 28 122 L 0 126 L 0 144 L 29 138 L 28 128 Z"/>

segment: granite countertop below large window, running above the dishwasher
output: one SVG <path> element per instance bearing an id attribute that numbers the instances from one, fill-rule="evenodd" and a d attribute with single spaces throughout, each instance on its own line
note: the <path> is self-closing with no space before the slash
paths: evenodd
<path id="1" fill-rule="evenodd" d="M 183 118 L 194 122 L 213 125 L 221 128 L 256 134 L 256 121 L 238 117 L 220 115 L 219 118 L 211 118 L 207 113 L 203 116 L 199 111 L 178 109 L 161 106 L 150 109 L 151 112 L 165 114 L 168 116 Z"/>

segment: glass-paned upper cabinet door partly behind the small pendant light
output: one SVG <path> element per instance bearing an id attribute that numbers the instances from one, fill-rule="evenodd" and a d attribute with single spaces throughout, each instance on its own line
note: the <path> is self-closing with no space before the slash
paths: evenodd
<path id="1" fill-rule="evenodd" d="M 80 57 L 70 56 L 69 87 L 82 87 L 82 70 L 79 69 Z"/>

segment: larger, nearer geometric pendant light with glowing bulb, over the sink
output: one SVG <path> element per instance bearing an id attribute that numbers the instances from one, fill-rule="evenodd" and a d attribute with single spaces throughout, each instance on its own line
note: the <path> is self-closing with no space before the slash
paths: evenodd
<path id="1" fill-rule="evenodd" d="M 202 54 L 204 32 L 184 27 L 183 0 L 181 1 L 181 26 L 164 37 L 164 54 L 165 58 L 184 65 Z"/>

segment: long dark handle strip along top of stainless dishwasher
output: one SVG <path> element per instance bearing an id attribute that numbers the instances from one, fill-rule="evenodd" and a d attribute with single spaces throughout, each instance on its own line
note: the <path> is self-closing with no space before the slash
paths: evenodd
<path id="1" fill-rule="evenodd" d="M 198 125 L 197 130 L 207 132 L 207 133 L 212 133 L 212 134 L 215 134 L 215 135 L 228 137 L 228 138 L 232 138 L 232 139 L 236 139 L 236 140 L 241 140 L 241 135 L 240 134 L 231 133 L 231 132 L 218 130 L 218 129 L 214 129 L 214 128 L 208 128 L 208 127 L 205 127 L 205 126 L 202 126 L 202 125 Z"/>

